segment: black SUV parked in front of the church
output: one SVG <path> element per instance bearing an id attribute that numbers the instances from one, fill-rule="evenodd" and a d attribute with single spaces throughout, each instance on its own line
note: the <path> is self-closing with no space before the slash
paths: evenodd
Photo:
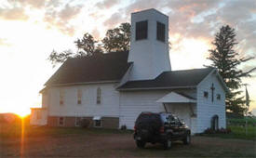
<path id="1" fill-rule="evenodd" d="M 171 113 L 141 112 L 135 122 L 133 137 L 139 148 L 151 142 L 162 143 L 165 149 L 169 149 L 175 140 L 190 144 L 190 133 L 188 126 Z"/>

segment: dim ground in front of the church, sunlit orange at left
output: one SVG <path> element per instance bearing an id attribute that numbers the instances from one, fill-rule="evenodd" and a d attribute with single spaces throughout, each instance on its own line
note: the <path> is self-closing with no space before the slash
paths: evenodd
<path id="1" fill-rule="evenodd" d="M 192 137 L 191 145 L 175 142 L 138 149 L 132 131 L 0 125 L 0 157 L 256 157 L 255 141 Z M 21 137 L 23 136 L 23 137 Z"/>

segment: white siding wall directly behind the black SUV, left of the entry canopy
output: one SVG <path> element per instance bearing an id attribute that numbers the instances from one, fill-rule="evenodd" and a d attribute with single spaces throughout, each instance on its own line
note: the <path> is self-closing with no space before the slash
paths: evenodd
<path id="1" fill-rule="evenodd" d="M 137 91 L 120 93 L 120 126 L 133 129 L 141 112 L 165 112 L 162 103 L 156 100 L 168 94 L 167 91 Z"/>

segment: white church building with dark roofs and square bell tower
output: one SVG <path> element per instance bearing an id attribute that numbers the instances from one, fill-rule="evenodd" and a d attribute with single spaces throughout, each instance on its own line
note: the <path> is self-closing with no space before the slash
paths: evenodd
<path id="1" fill-rule="evenodd" d="M 133 129 L 141 112 L 171 112 L 200 133 L 226 127 L 226 92 L 216 69 L 171 71 L 168 16 L 147 9 L 131 14 L 129 52 L 67 59 L 40 91 L 31 125 L 88 119 L 90 126 Z"/>

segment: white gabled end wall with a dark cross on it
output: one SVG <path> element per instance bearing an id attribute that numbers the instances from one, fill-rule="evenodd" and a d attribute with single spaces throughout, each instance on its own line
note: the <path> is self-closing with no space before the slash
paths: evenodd
<path id="1" fill-rule="evenodd" d="M 214 84 L 214 101 L 211 101 L 211 84 Z M 204 91 L 208 91 L 209 97 L 204 97 Z M 221 99 L 217 99 L 221 94 Z M 225 93 L 215 73 L 209 75 L 197 86 L 197 133 L 203 132 L 210 127 L 213 115 L 219 116 L 219 127 L 226 127 L 225 116 Z"/>

